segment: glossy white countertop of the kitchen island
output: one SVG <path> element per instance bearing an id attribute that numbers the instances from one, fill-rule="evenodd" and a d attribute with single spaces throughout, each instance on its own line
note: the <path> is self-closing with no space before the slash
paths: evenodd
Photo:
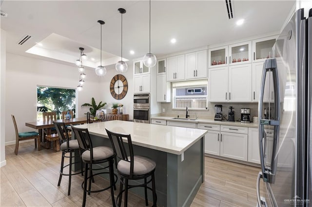
<path id="1" fill-rule="evenodd" d="M 181 155 L 207 133 L 207 130 L 202 129 L 117 120 L 75 127 L 88 128 L 91 135 L 103 138 L 108 138 L 105 128 L 116 133 L 130 134 L 132 143 L 135 145 L 175 155 Z"/>

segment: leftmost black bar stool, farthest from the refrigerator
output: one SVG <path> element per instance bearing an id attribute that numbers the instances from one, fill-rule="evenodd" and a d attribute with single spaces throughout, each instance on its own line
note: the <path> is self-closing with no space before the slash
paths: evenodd
<path id="1" fill-rule="evenodd" d="M 79 150 L 79 156 L 80 156 L 80 149 L 79 149 L 79 145 L 78 145 L 78 140 L 77 139 L 73 139 L 73 140 L 69 139 L 69 138 L 71 138 L 71 133 L 68 132 L 64 122 L 53 121 L 53 124 L 54 124 L 56 131 L 58 133 L 58 136 L 59 136 L 59 140 L 55 140 L 55 141 L 60 141 L 60 150 L 62 151 L 62 160 L 61 160 L 60 170 L 59 170 L 58 186 L 60 185 L 60 182 L 62 180 L 63 175 L 69 176 L 67 195 L 70 195 L 70 186 L 71 186 L 72 175 L 79 174 L 79 173 L 81 173 L 81 175 L 83 175 L 82 168 L 81 168 L 80 172 L 72 173 L 72 165 L 77 163 L 77 162 L 74 162 L 74 163 L 72 162 L 73 153 L 75 151 L 77 152 Z M 69 156 L 66 155 L 67 153 L 69 153 Z M 69 158 L 69 164 L 64 166 L 64 158 L 65 157 Z M 81 161 L 81 166 L 82 166 L 82 161 Z M 69 167 L 68 174 L 63 173 L 63 170 L 66 167 Z"/>

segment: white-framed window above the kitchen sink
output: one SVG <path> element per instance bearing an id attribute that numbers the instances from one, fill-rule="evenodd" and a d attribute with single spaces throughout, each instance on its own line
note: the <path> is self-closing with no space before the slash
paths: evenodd
<path id="1" fill-rule="evenodd" d="M 207 81 L 183 81 L 172 84 L 173 108 L 207 109 Z"/>

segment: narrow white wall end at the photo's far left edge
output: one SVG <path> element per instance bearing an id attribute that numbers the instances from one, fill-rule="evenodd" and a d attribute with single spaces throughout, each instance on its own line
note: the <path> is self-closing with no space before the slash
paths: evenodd
<path id="1" fill-rule="evenodd" d="M 6 32 L 1 30 L 1 50 L 0 50 L 0 167 L 6 164 L 5 160 L 5 50 Z"/>

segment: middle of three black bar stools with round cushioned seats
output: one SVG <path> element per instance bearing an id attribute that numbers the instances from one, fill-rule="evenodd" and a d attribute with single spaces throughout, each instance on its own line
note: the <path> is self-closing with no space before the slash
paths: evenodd
<path id="1" fill-rule="evenodd" d="M 105 146 L 99 146 L 99 147 L 93 147 L 92 141 L 90 138 L 90 134 L 87 128 L 77 128 L 74 127 L 72 124 L 70 125 L 73 132 L 75 133 L 76 138 L 78 139 L 78 144 L 81 150 L 84 152 L 81 154 L 82 162 L 84 163 L 84 181 L 82 183 L 83 186 L 83 202 L 82 206 L 85 207 L 86 205 L 86 195 L 87 193 L 90 194 L 91 192 L 101 192 L 104 190 L 111 189 L 111 195 L 112 195 L 112 202 L 113 206 L 115 207 L 115 197 L 114 197 L 114 190 L 116 190 L 116 182 L 117 182 L 117 175 L 114 174 L 114 151 L 110 147 Z M 101 164 L 108 162 L 108 166 L 99 168 L 99 169 L 93 169 L 93 164 Z M 94 182 L 93 177 L 98 174 L 103 174 L 107 172 L 100 172 L 100 173 L 93 173 L 93 171 L 96 170 L 103 170 L 103 169 L 109 169 L 109 179 L 110 179 L 110 186 L 101 189 L 101 190 L 91 190 L 91 183 Z M 90 175 L 88 176 L 88 170 L 90 171 Z M 115 180 L 116 178 L 116 180 Z M 89 186 L 87 190 L 87 182 L 89 180 Z"/>

